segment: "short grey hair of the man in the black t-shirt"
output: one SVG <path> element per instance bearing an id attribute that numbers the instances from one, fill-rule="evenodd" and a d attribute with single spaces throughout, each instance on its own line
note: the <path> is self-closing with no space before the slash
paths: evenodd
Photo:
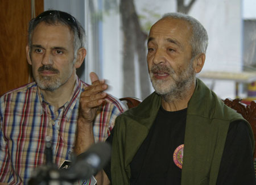
<path id="1" fill-rule="evenodd" d="M 191 47 L 192 47 L 192 58 L 197 54 L 206 53 L 208 46 L 208 34 L 204 26 L 192 16 L 182 14 L 179 12 L 172 12 L 164 14 L 162 19 L 172 18 L 172 19 L 181 19 L 187 21 L 192 26 L 192 35 L 191 35 Z"/>

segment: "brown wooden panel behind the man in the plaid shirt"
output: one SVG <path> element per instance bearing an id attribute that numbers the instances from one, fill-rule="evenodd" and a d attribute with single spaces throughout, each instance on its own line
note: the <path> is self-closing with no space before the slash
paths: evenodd
<path id="1" fill-rule="evenodd" d="M 35 0 L 35 15 L 44 9 Z M 32 82 L 26 59 L 27 27 L 31 19 L 31 0 L 0 1 L 0 95 Z"/>

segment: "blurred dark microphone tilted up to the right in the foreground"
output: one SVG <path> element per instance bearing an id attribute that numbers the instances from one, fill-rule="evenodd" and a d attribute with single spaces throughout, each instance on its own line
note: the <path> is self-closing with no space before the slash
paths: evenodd
<path id="1" fill-rule="evenodd" d="M 89 179 L 96 175 L 110 159 L 111 146 L 106 142 L 92 145 L 86 152 L 78 155 L 68 169 L 60 170 L 60 179 L 75 182 L 79 179 Z"/>

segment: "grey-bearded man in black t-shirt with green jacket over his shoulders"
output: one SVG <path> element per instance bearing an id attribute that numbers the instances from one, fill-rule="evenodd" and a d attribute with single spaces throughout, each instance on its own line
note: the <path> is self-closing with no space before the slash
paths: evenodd
<path id="1" fill-rule="evenodd" d="M 255 184 L 249 123 L 196 78 L 207 45 L 205 28 L 185 14 L 166 14 L 151 27 L 155 92 L 115 120 L 104 169 L 113 185 Z"/>

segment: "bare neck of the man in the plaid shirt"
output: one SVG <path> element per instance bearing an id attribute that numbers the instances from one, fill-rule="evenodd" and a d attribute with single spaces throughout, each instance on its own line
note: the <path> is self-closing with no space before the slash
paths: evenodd
<path id="1" fill-rule="evenodd" d="M 75 87 L 75 82 L 76 76 L 71 75 L 70 79 L 64 85 L 61 85 L 58 89 L 54 91 L 40 89 L 40 91 L 42 92 L 46 102 L 54 106 L 54 110 L 56 112 L 71 98 L 73 89 Z"/>

